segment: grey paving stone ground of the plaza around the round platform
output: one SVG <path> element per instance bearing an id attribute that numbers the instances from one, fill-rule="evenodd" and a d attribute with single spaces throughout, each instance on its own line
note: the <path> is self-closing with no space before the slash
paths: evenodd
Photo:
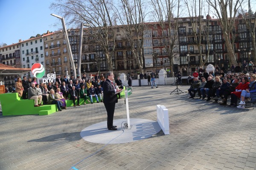
<path id="1" fill-rule="evenodd" d="M 170 135 L 125 144 L 81 139 L 85 127 L 106 121 L 103 103 L 48 116 L 0 116 L 0 170 L 69 170 L 79 161 L 78 170 L 255 170 L 256 110 L 170 95 L 175 88 L 133 88 L 130 118 L 156 121 L 156 105 L 165 105 Z M 124 109 L 121 99 L 114 119 L 125 119 Z"/>

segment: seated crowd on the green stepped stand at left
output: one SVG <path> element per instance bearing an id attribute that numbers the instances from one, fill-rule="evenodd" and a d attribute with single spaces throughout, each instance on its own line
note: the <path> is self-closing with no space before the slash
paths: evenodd
<path id="1" fill-rule="evenodd" d="M 56 104 L 58 111 L 61 111 L 61 109 L 67 109 L 65 101 L 67 99 L 73 100 L 74 107 L 80 106 L 80 98 L 84 99 L 84 105 L 86 105 L 86 101 L 93 104 L 93 98 L 96 99 L 97 103 L 103 102 L 102 87 L 105 81 L 103 74 L 100 76 L 96 74 L 95 77 L 92 74 L 89 77 L 84 74 L 81 78 L 80 75 L 77 75 L 76 79 L 73 75 L 70 79 L 67 79 L 66 75 L 63 78 L 57 76 L 55 83 L 41 82 L 38 84 L 35 77 L 27 79 L 26 76 L 23 76 L 22 80 L 20 77 L 17 78 L 15 92 L 23 99 L 34 99 L 35 107 Z M 129 86 L 131 86 L 131 81 L 128 79 Z M 115 87 L 123 89 L 120 77 L 115 80 Z M 121 99 L 120 94 L 119 99 Z"/>

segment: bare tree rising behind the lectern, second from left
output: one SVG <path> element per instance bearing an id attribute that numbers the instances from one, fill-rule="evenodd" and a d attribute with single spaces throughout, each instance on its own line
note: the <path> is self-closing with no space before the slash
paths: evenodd
<path id="1" fill-rule="evenodd" d="M 145 4 L 143 0 L 121 0 L 121 10 L 117 9 L 119 21 L 125 37 L 131 45 L 131 52 L 143 73 L 143 34 L 145 30 Z M 143 73 L 144 74 L 144 73 Z"/>

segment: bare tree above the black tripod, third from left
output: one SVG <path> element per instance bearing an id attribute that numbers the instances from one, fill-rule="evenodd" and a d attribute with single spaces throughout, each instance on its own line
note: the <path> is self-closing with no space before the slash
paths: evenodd
<path id="1" fill-rule="evenodd" d="M 173 70 L 173 57 L 179 55 L 178 50 L 178 20 L 180 16 L 180 0 L 151 0 L 154 8 L 153 17 L 162 31 L 162 43 L 170 61 L 170 70 Z M 176 10 L 176 16 L 174 12 Z M 168 30 L 166 34 L 164 30 Z"/>

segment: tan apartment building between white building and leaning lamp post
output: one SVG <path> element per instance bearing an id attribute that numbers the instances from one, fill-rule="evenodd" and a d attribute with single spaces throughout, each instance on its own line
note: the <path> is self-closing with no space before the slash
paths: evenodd
<path id="1" fill-rule="evenodd" d="M 70 74 L 70 58 L 67 53 L 67 42 L 64 32 L 55 31 L 44 36 L 44 59 L 46 73 L 63 77 L 66 71 Z"/>

